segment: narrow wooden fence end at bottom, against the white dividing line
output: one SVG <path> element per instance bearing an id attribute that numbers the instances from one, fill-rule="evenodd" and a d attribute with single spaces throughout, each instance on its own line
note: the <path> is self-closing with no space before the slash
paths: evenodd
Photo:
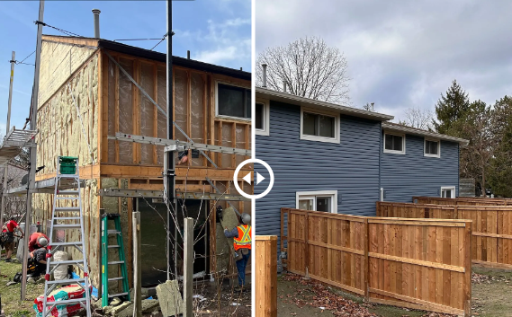
<path id="1" fill-rule="evenodd" d="M 256 317 L 277 316 L 277 236 L 256 235 Z"/>

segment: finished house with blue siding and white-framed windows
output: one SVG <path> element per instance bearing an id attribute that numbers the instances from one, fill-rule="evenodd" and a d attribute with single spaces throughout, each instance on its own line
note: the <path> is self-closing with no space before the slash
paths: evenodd
<path id="1" fill-rule="evenodd" d="M 274 171 L 273 189 L 256 199 L 256 234 L 280 234 L 281 207 L 374 216 L 379 199 L 410 202 L 441 196 L 441 187 L 445 195 L 454 187 L 450 195 L 456 195 L 464 140 L 386 122 L 391 119 L 256 87 L 256 158 Z M 424 154 L 425 146 L 434 154 Z M 270 178 L 255 168 L 265 176 L 258 194 Z"/>

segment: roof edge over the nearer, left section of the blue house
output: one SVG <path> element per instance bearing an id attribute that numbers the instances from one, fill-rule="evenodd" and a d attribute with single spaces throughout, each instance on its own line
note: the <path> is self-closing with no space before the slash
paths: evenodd
<path id="1" fill-rule="evenodd" d="M 291 93 L 276 92 L 271 89 L 262 87 L 256 87 L 256 98 L 265 98 L 273 101 L 281 101 L 288 104 L 294 104 L 297 106 L 304 106 L 308 108 L 314 108 L 319 110 L 329 110 L 345 114 L 347 116 L 353 116 L 357 118 L 373 119 L 376 121 L 391 120 L 394 117 L 373 111 L 366 111 L 362 109 L 342 106 L 336 103 L 317 101 L 314 99 L 300 97 Z"/>

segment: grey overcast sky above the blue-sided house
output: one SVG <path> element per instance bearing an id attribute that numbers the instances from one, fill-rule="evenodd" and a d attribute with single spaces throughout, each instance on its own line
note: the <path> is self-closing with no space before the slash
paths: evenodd
<path id="1" fill-rule="evenodd" d="M 434 110 L 454 79 L 470 99 L 512 94 L 512 2 L 258 0 L 256 54 L 318 36 L 345 53 L 354 106 Z"/>

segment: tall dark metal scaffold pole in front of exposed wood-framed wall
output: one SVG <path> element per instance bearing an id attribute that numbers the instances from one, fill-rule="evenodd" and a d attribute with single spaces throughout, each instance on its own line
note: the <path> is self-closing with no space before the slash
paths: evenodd
<path id="1" fill-rule="evenodd" d="M 173 4 L 167 0 L 167 139 L 173 139 Z M 166 205 L 170 206 L 167 212 L 167 280 L 171 279 L 171 263 L 175 269 L 177 278 L 177 212 L 175 199 L 175 153 L 164 154 L 164 198 Z M 175 219 L 170 213 L 174 213 Z M 175 228 L 174 236 L 171 237 L 171 227 Z M 173 242 L 171 242 L 173 240 Z M 171 246 L 174 245 L 174 248 Z M 172 260 L 172 261 L 171 261 Z"/>

